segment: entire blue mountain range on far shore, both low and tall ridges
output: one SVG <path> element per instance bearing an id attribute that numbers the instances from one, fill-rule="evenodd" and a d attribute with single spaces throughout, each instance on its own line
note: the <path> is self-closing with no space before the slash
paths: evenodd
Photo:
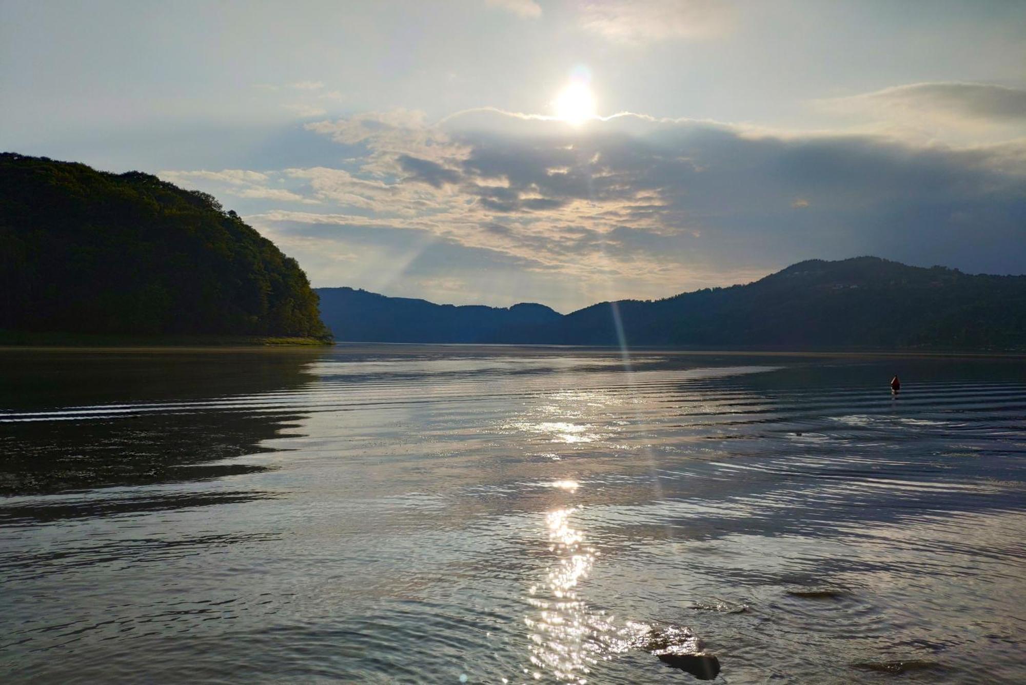
<path id="1" fill-rule="evenodd" d="M 326 294 L 329 290 L 340 293 L 334 305 Z M 494 310 L 349 288 L 319 292 L 324 320 L 342 340 L 617 346 L 623 339 L 631 347 L 705 349 L 1026 349 L 1026 276 L 974 276 L 877 257 L 811 259 L 748 285 L 659 300 L 601 303 L 565 316 L 540 305 Z M 534 308 L 532 316 L 514 316 L 521 307 Z"/>

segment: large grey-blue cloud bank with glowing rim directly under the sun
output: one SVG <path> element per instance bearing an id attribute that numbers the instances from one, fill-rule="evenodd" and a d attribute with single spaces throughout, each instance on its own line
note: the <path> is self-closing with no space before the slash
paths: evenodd
<path id="1" fill-rule="evenodd" d="M 397 170 L 392 211 L 418 202 L 405 226 L 582 276 L 599 266 L 627 274 L 642 264 L 787 264 L 849 251 L 937 263 L 973 255 L 981 267 L 1014 269 L 995 247 L 999 237 L 1019 238 L 1018 264 L 1026 257 L 1017 224 L 1026 211 L 1021 145 L 783 137 L 630 115 L 581 129 L 498 112 L 440 125 L 408 113 L 371 121 L 360 118 L 356 137 L 368 149 L 369 173 Z M 430 150 L 434 165 L 403 150 Z M 425 191 L 416 198 L 399 191 L 411 182 Z M 974 217 L 972 230 L 956 215 Z"/>

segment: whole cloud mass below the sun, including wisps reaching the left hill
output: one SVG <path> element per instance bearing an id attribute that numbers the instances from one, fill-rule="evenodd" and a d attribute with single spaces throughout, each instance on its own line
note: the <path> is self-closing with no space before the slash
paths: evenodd
<path id="1" fill-rule="evenodd" d="M 255 225 L 290 241 L 305 266 L 321 265 L 310 267 L 320 284 L 379 282 L 353 280 L 316 253 L 333 245 L 385 260 L 390 283 L 407 283 L 406 267 L 386 264 L 394 258 L 420 265 L 422 277 L 467 270 L 452 277 L 484 287 L 489 269 L 453 256 L 466 250 L 475 264 L 503 265 L 517 292 L 544 283 L 551 297 L 536 298 L 560 297 L 564 309 L 727 285 L 811 257 L 990 273 L 1026 265 L 1026 140 L 911 145 L 629 114 L 575 128 L 495 110 L 438 123 L 364 113 L 307 128 L 344 148 L 346 161 L 174 173 L 261 197 Z M 268 208 L 276 189 L 318 211 Z M 445 246 L 448 261 L 434 272 L 427 257 L 410 261 L 410 241 L 435 245 L 431 254 Z"/>

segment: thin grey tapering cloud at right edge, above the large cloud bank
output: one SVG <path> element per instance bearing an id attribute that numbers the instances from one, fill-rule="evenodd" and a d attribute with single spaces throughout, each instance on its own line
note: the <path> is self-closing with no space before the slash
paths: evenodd
<path id="1" fill-rule="evenodd" d="M 1026 90 L 989 83 L 912 83 L 819 103 L 834 112 L 1026 123 Z"/>

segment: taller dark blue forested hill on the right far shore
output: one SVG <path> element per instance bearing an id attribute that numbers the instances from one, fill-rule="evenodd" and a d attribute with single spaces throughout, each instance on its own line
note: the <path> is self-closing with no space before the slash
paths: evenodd
<path id="1" fill-rule="evenodd" d="M 1026 348 L 1026 276 L 812 259 L 748 285 L 615 306 L 628 345 L 701 348 Z M 567 315 L 549 341 L 617 345 L 614 306 Z"/>

